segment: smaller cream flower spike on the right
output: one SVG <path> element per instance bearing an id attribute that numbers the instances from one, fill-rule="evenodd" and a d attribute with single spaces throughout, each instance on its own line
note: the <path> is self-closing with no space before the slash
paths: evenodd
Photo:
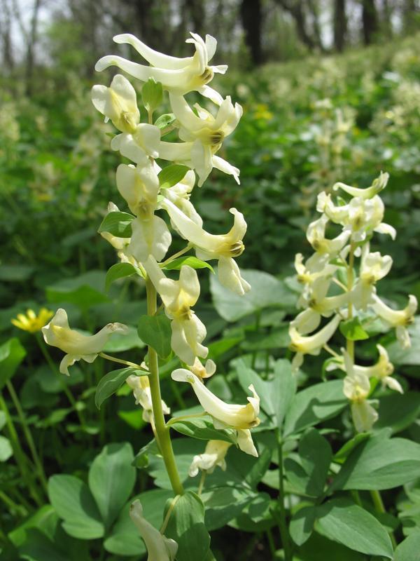
<path id="1" fill-rule="evenodd" d="M 407 349 L 407 326 L 413 322 L 417 309 L 416 297 L 412 295 L 401 310 L 392 309 L 377 295 L 377 282 L 391 270 L 392 259 L 372 252 L 370 241 L 375 232 L 392 239 L 396 235 L 393 227 L 382 222 L 384 203 L 379 192 L 387 182 L 388 174 L 381 173 L 367 189 L 336 183 L 333 191 L 350 196 L 348 200 L 338 196 L 334 201 L 330 194 L 321 192 L 316 206 L 321 217 L 307 228 L 307 240 L 314 254 L 306 262 L 301 254 L 295 258 L 297 280 L 303 285 L 298 305 L 303 311 L 289 327 L 290 349 L 296 353 L 293 367 L 297 370 L 307 354 L 318 355 L 322 349 L 332 354 L 327 370 L 346 373 L 343 391 L 351 403 L 358 432 L 370 431 L 378 418 L 369 399 L 374 388 L 370 379 L 401 393 L 402 387 L 392 377 L 393 365 L 383 346 L 377 345 L 379 357 L 374 365 L 362 366 L 355 364 L 354 342 L 366 339 L 364 327 L 380 318 L 385 326 L 395 328 L 400 346 Z M 328 224 L 337 225 L 335 238 L 325 237 Z M 322 318 L 328 318 L 328 323 L 316 331 Z M 338 327 L 346 337 L 346 349 L 339 353 L 328 345 Z"/>

